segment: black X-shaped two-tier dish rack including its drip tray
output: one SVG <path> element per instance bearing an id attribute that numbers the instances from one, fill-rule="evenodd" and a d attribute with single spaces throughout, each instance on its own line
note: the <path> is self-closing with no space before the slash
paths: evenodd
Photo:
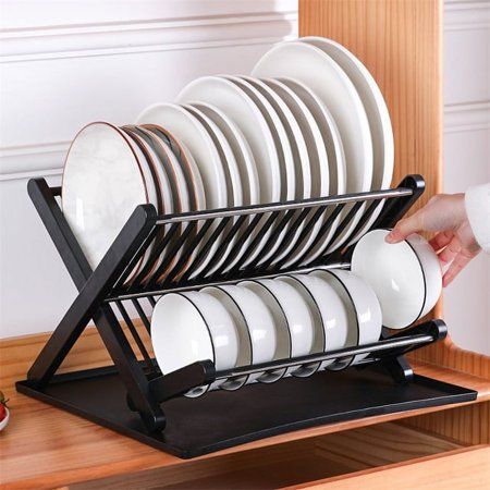
<path id="1" fill-rule="evenodd" d="M 322 224 L 317 243 L 329 235 L 332 223 L 339 223 L 330 238 L 333 243 L 357 211 L 363 209 L 363 217 L 352 236 L 364 229 L 379 204 L 384 201 L 371 229 L 390 228 L 424 189 L 420 175 L 408 175 L 396 188 L 388 191 L 194 213 L 158 216 L 155 207 L 142 205 L 136 207 L 96 270 L 91 270 L 57 201 L 61 188 L 49 187 L 44 179 L 30 180 L 30 198 L 78 289 L 78 296 L 33 364 L 27 379 L 17 382 L 16 388 L 24 394 L 180 457 L 194 457 L 332 421 L 475 400 L 475 391 L 415 375 L 404 357 L 409 351 L 443 339 L 446 327 L 442 320 L 431 320 L 395 334 L 383 329 L 382 339 L 369 345 L 226 371 L 217 371 L 211 360 L 203 359 L 162 375 L 148 348 L 148 310 L 161 294 L 308 271 L 320 266 L 348 268 L 352 246 L 299 265 L 307 250 L 294 265 L 285 267 L 284 264 L 318 220 L 322 220 Z M 162 226 L 166 226 L 164 233 Z M 287 231 L 274 256 L 289 246 L 286 257 L 273 265 L 272 258 L 259 264 L 259 254 L 247 267 L 241 267 L 257 244 L 265 241 L 262 254 L 274 246 L 284 226 Z M 225 272 L 253 233 L 254 238 L 248 241 L 238 264 Z M 156 236 L 163 236 L 157 246 L 154 245 Z M 213 273 L 207 273 L 209 266 L 191 279 L 219 238 L 221 245 L 215 250 L 217 258 L 233 241 L 226 259 Z M 291 246 L 293 240 L 295 243 Z M 198 245 L 199 253 L 185 273 L 180 273 Z M 166 250 L 163 259 L 162 250 Z M 146 266 L 128 282 L 127 278 L 144 256 Z M 160 281 L 163 271 L 164 279 Z M 136 311 L 145 327 L 143 335 L 131 311 Z M 126 330 L 121 327 L 120 318 L 126 323 Z M 56 375 L 90 320 L 113 366 Z M 130 336 L 137 351 L 133 350 Z M 255 383 L 234 392 L 217 390 L 198 399 L 183 396 L 188 390 L 217 379 L 363 353 L 369 353 L 363 364 L 342 371 L 323 370 L 309 378 Z"/>

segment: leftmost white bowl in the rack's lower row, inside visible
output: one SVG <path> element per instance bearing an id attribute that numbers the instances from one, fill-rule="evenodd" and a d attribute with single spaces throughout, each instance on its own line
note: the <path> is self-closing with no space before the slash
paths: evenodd
<path id="1" fill-rule="evenodd" d="M 238 357 L 238 338 L 232 316 L 209 294 L 171 293 L 157 303 L 151 317 L 155 357 L 167 375 L 188 364 L 210 359 L 217 370 L 230 369 Z M 198 396 L 208 388 L 186 393 Z"/>

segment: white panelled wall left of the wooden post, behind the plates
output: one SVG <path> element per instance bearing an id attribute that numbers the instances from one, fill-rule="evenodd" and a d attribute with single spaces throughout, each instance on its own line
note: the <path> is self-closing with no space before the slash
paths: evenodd
<path id="1" fill-rule="evenodd" d="M 30 204 L 89 121 L 131 123 L 191 79 L 248 73 L 296 0 L 1 0 L 0 338 L 52 330 L 75 287 Z"/>

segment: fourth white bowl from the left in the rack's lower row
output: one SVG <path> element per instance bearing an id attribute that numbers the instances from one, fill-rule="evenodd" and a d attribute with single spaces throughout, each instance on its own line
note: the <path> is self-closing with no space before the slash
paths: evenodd
<path id="1" fill-rule="evenodd" d="M 315 275 L 292 274 L 311 294 L 317 304 L 323 324 L 324 352 L 335 351 L 345 346 L 347 339 L 347 313 L 335 290 L 326 281 Z M 333 360 L 324 360 L 320 367 L 330 366 Z"/>

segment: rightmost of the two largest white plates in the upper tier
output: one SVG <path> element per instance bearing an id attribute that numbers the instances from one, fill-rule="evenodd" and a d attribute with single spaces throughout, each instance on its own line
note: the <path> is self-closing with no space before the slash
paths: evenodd
<path id="1" fill-rule="evenodd" d="M 344 46 L 323 37 L 304 37 L 308 42 L 330 56 L 344 70 L 356 87 L 366 109 L 372 137 L 373 172 L 371 191 L 389 188 L 393 176 L 394 142 L 387 102 L 375 78 L 366 66 Z M 356 242 L 378 218 L 383 204 L 375 212 L 348 244 Z"/>

